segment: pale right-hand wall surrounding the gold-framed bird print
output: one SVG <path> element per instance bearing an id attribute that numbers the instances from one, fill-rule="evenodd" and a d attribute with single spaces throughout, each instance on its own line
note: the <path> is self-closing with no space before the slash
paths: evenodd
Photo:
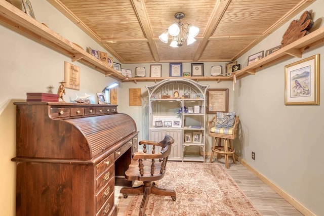
<path id="1" fill-rule="evenodd" d="M 323 26 L 324 1 L 318 0 L 307 10 L 313 12 L 316 27 Z M 299 19 L 301 14 L 294 19 Z M 238 59 L 280 45 L 286 23 L 255 48 Z M 285 106 L 285 65 L 320 54 L 320 105 Z M 236 149 L 242 157 L 271 182 L 316 215 L 324 215 L 324 132 L 323 46 L 307 50 L 302 58 L 279 61 L 240 80 L 234 93 L 234 107 L 241 121 Z M 238 140 L 236 140 L 238 141 Z M 255 152 L 255 160 L 251 152 Z"/>

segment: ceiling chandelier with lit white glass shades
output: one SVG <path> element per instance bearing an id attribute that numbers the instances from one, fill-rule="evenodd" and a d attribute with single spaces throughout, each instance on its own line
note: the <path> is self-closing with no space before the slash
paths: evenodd
<path id="1" fill-rule="evenodd" d="M 184 13 L 178 12 L 174 15 L 179 21 L 174 22 L 169 26 L 168 30 L 165 30 L 158 38 L 168 43 L 169 34 L 172 36 L 170 47 L 181 47 L 187 40 L 187 45 L 192 44 L 196 39 L 194 38 L 199 33 L 199 28 L 188 23 L 181 23 L 181 19 L 184 18 Z"/>

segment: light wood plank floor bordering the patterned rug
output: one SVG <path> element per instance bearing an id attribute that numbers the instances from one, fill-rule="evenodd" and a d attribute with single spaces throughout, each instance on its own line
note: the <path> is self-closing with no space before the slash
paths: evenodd
<path id="1" fill-rule="evenodd" d="M 220 161 L 221 162 L 214 161 L 214 163 L 220 163 L 225 168 L 222 159 L 220 159 Z M 262 213 L 262 215 L 303 215 L 245 166 L 240 164 L 238 161 L 236 164 L 233 164 L 231 159 L 229 161 L 230 168 L 226 169 L 226 171 L 235 180 L 238 187 L 246 194 L 250 201 L 253 202 L 255 207 Z M 206 162 L 209 162 L 209 158 L 206 159 Z M 119 194 L 120 188 L 121 187 L 115 187 L 115 203 L 117 205 L 118 216 L 127 213 L 130 201 L 132 200 L 131 196 L 124 199 L 123 195 Z"/>

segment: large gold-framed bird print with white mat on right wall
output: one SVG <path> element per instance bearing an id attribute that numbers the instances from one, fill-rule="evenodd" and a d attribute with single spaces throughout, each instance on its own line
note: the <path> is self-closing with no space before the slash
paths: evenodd
<path id="1" fill-rule="evenodd" d="M 285 105 L 319 105 L 319 54 L 285 66 Z"/>

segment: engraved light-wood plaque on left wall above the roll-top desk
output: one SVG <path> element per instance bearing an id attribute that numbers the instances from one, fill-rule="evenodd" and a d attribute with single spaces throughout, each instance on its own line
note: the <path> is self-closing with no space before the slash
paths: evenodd
<path id="1" fill-rule="evenodd" d="M 80 90 L 80 67 L 64 62 L 64 81 L 66 89 Z"/>

